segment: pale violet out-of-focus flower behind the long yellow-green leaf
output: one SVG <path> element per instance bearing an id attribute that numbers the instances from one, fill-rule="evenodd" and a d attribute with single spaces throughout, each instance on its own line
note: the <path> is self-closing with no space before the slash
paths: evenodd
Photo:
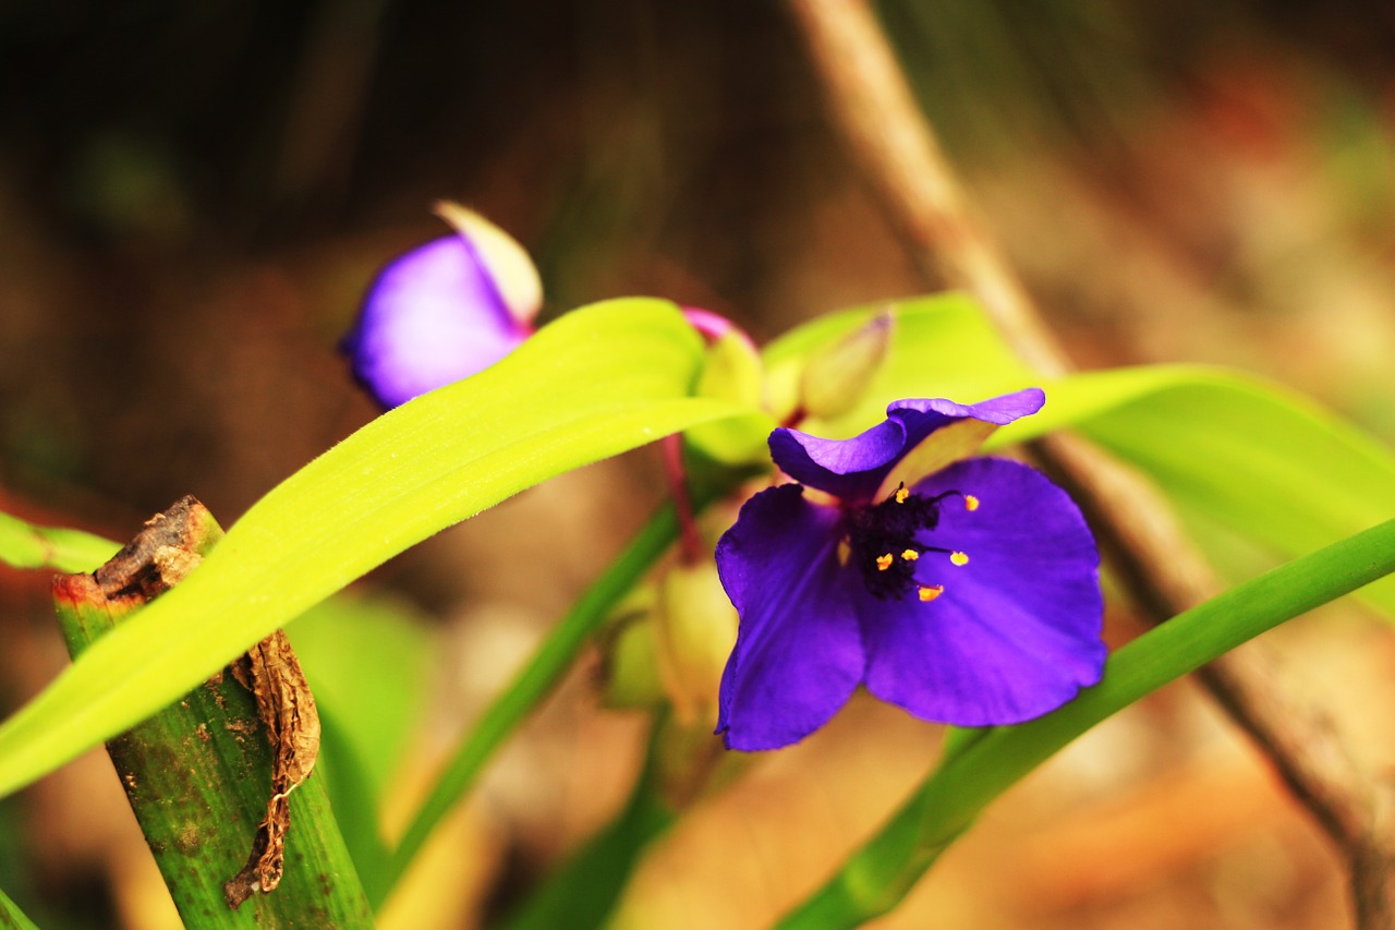
<path id="1" fill-rule="evenodd" d="M 389 263 L 343 341 L 354 377 L 385 408 L 494 364 L 531 332 L 537 272 L 498 226 L 453 204 L 456 232 Z"/>

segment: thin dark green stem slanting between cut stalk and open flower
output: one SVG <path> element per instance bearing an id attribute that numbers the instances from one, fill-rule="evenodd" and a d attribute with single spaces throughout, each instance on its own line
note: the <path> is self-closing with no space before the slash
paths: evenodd
<path id="1" fill-rule="evenodd" d="M 441 778 L 402 835 L 402 842 L 388 859 L 385 876 L 381 881 L 374 883 L 372 902 L 375 909 L 392 894 L 398 880 L 421 850 L 431 831 L 474 783 L 494 750 L 551 691 L 611 607 L 635 586 L 677 536 L 678 521 L 674 517 L 674 510 L 664 505 L 640 529 L 605 574 L 562 617 L 562 621 L 543 642 L 512 686 L 485 709 L 480 722 L 456 747 Z"/>

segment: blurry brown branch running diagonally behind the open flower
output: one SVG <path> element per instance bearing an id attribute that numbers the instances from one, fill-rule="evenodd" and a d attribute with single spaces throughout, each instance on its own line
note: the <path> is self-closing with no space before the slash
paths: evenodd
<path id="1" fill-rule="evenodd" d="M 917 265 L 933 282 L 976 296 L 1042 374 L 1069 371 L 1064 350 L 974 222 L 866 0 L 787 0 L 787 6 L 837 128 Z M 1219 591 L 1221 582 L 1175 515 L 1138 475 L 1073 436 L 1042 440 L 1034 452 L 1081 503 L 1155 623 Z M 1216 660 L 1198 677 L 1336 842 L 1349 869 L 1356 924 L 1395 926 L 1388 890 L 1395 855 L 1381 832 L 1375 790 L 1325 716 L 1286 695 L 1257 644 Z"/>

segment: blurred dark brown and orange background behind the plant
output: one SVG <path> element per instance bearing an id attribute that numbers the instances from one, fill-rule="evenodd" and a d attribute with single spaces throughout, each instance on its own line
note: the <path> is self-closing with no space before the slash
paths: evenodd
<path id="1" fill-rule="evenodd" d="M 1236 364 L 1395 440 L 1395 8 L 877 11 L 1077 362 Z M 336 342 L 377 267 L 444 232 L 435 198 L 531 251 L 545 314 L 646 293 L 766 338 L 929 286 L 773 3 L 6 0 L 0 74 L 0 508 L 40 522 L 126 539 L 194 493 L 230 525 L 374 416 Z M 439 644 L 405 810 L 640 524 L 657 475 L 636 454 L 565 476 L 363 585 Z M 0 573 L 0 607 L 8 712 L 67 659 L 47 578 Z M 1329 609 L 1272 638 L 1388 771 L 1389 637 Z M 487 920 L 614 813 L 643 722 L 597 709 L 589 672 L 491 768 L 391 920 Z M 854 701 L 700 802 L 619 923 L 764 926 L 936 746 L 935 728 Z M 105 757 L 0 803 L 0 888 L 45 927 L 166 926 L 142 856 Z M 1183 683 L 990 809 L 879 926 L 1332 927 L 1342 883 Z"/>

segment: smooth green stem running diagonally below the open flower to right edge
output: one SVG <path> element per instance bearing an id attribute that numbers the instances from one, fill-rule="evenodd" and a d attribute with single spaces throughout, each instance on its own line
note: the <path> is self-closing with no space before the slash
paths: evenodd
<path id="1" fill-rule="evenodd" d="M 1395 571 L 1395 521 L 1274 568 L 1177 614 L 1110 656 L 1059 711 L 967 741 L 780 927 L 855 927 L 886 913 L 989 802 L 1109 715 L 1313 607 Z"/>

